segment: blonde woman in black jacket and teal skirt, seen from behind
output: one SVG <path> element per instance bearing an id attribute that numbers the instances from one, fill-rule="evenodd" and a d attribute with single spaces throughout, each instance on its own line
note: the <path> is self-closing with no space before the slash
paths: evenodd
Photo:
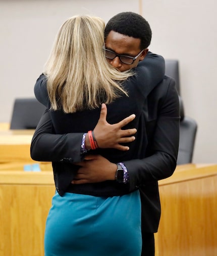
<path id="1" fill-rule="evenodd" d="M 84 157 L 87 160 L 88 156 L 59 158 L 56 150 L 50 150 L 57 193 L 46 222 L 46 256 L 141 254 L 138 187 L 130 189 L 127 182 L 118 180 L 113 169 L 117 168 L 116 162 L 138 158 L 145 129 L 142 107 L 147 96 L 146 73 L 142 65 L 126 72 L 109 65 L 104 57 L 103 30 L 104 22 L 97 17 L 68 19 L 60 28 L 44 73 L 36 82 L 36 98 L 50 109 L 54 133 L 63 135 L 62 142 L 69 133 L 83 134 L 77 138 L 81 146 L 89 141 L 89 156 L 101 155 L 111 162 L 109 179 L 107 176 L 101 182 L 73 185 L 71 181 L 79 169 L 75 162 Z M 136 58 L 142 60 L 146 53 L 144 49 Z M 122 141 L 128 142 L 129 147 L 118 150 L 108 145 L 106 138 L 104 142 L 94 138 L 101 105 L 105 108 L 103 103 L 107 105 L 109 123 L 122 123 L 122 119 L 131 116 L 132 121 L 125 122 L 128 125 L 124 129 L 132 135 L 136 128 L 139 140 L 130 137 Z M 32 148 L 34 158 L 33 151 Z M 101 172 L 103 176 L 103 166 Z"/>

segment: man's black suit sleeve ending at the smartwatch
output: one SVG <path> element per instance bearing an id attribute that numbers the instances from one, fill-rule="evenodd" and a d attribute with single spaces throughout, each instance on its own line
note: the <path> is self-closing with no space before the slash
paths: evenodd
<path id="1" fill-rule="evenodd" d="M 171 79 L 160 107 L 148 157 L 125 161 L 130 190 L 146 182 L 170 177 L 176 168 L 179 148 L 179 99 L 175 81 Z"/>

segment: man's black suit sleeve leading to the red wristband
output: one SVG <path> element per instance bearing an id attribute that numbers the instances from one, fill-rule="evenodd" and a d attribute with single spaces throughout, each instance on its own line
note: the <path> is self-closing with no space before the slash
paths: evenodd
<path id="1" fill-rule="evenodd" d="M 52 134 L 50 113 L 45 110 L 32 137 L 30 153 L 36 161 L 80 162 L 83 133 Z"/>

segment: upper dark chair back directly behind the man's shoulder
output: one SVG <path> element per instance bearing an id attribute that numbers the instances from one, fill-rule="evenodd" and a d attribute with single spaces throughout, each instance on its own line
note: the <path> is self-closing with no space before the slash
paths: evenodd
<path id="1" fill-rule="evenodd" d="M 180 79 L 179 79 L 179 61 L 178 60 L 165 60 L 165 74 L 172 77 L 176 82 L 176 89 L 179 95 L 180 91 Z"/>

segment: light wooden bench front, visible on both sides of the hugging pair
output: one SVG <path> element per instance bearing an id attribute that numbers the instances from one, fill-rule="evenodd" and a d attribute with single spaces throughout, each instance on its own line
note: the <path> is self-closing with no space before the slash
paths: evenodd
<path id="1" fill-rule="evenodd" d="M 162 214 L 156 256 L 217 255 L 217 165 L 178 166 L 159 181 Z M 0 171 L 0 256 L 43 256 L 55 193 L 50 171 Z"/>

